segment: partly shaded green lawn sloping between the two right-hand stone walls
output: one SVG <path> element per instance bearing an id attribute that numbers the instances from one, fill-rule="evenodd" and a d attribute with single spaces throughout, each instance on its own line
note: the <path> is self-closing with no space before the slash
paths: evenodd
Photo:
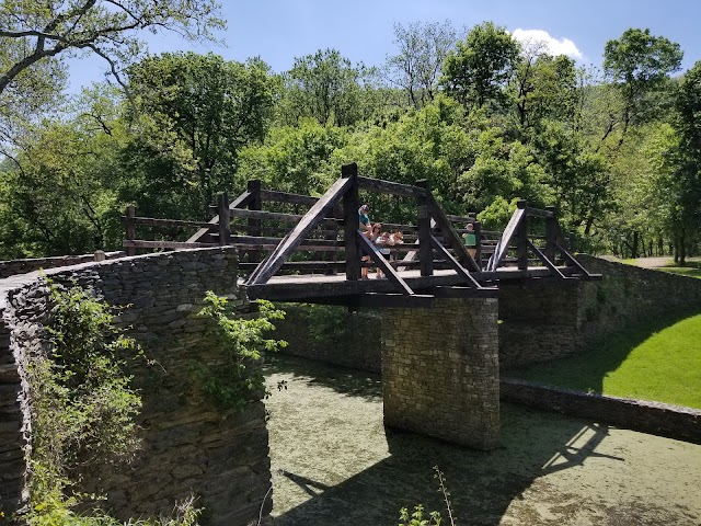
<path id="1" fill-rule="evenodd" d="M 584 355 L 512 369 L 505 376 L 701 409 L 701 313 L 647 323 Z"/>

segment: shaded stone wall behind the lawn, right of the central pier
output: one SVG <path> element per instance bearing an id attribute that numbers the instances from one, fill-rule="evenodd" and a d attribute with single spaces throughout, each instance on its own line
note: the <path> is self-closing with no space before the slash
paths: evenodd
<path id="1" fill-rule="evenodd" d="M 577 255 L 599 282 L 499 284 L 504 368 L 586 351 L 606 336 L 660 316 L 701 312 L 701 279 Z"/>

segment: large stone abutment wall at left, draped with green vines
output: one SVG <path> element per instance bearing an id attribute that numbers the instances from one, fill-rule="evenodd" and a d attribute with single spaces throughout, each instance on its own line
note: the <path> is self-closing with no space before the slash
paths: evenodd
<path id="1" fill-rule="evenodd" d="M 235 251 L 217 248 L 150 254 L 46 274 L 57 283 L 76 281 L 92 287 L 111 305 L 130 305 L 117 321 L 130 328 L 129 335 L 142 343 L 156 364 L 135 371 L 135 387 L 143 401 L 138 419 L 141 447 L 136 458 L 129 466 L 91 470 L 85 473 L 84 488 L 104 492 L 106 506 L 122 518 L 168 514 L 176 500 L 195 494 L 198 505 L 205 507 L 205 524 L 257 521 L 271 484 L 264 405 L 258 401 L 241 414 L 222 412 L 202 392 L 192 373 L 196 362 L 216 366 L 226 361 L 226 353 L 209 344 L 209 321 L 196 312 L 207 289 L 243 304 L 235 299 Z M 27 282 L 7 297 L 10 342 L 9 348 L 1 350 L 0 364 L 14 371 L 3 376 L 10 387 L 2 391 L 2 403 L 18 396 L 22 401 L 28 399 L 26 388 L 18 392 L 15 375 L 23 376 L 27 352 L 45 344 L 41 323 L 46 289 L 37 276 L 27 275 Z M 15 403 L 13 414 L 16 410 Z M 23 425 L 30 428 L 26 418 Z M 16 436 L 15 427 L 16 418 L 7 430 Z M 16 466 L 16 447 L 8 450 L 7 458 L 0 454 L 0 481 L 5 473 L 15 473 Z M 16 477 L 12 484 L 2 495 L 0 505 L 5 508 L 21 501 Z M 272 501 L 265 500 L 264 515 L 271 507 Z"/>

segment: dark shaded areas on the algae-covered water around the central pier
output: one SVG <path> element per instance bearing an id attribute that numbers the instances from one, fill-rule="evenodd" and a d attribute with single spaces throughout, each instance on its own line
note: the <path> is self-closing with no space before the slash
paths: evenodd
<path id="1" fill-rule="evenodd" d="M 276 373 L 312 378 L 343 395 L 365 396 L 360 391 L 368 382 L 377 391 L 381 389 L 379 377 L 361 371 L 344 373 L 303 359 L 284 357 L 272 367 Z M 331 376 L 324 378 L 324 373 Z M 283 471 L 285 478 L 311 499 L 276 517 L 275 524 L 397 525 L 399 510 L 412 508 L 418 503 L 428 511 L 440 511 L 446 517 L 443 494 L 434 478 L 433 468 L 438 466 L 452 495 L 457 524 L 498 525 L 509 505 L 539 477 L 581 466 L 590 456 L 604 456 L 595 449 L 608 435 L 608 427 L 503 404 L 502 445 L 492 451 L 472 450 L 391 430 L 386 430 L 384 435 L 389 456 L 337 484 L 330 487 L 314 480 L 309 471 L 306 477 Z M 334 451 L 314 455 L 333 458 Z M 314 461 L 310 459 L 310 464 Z M 518 524 L 533 523 L 524 519 Z"/>

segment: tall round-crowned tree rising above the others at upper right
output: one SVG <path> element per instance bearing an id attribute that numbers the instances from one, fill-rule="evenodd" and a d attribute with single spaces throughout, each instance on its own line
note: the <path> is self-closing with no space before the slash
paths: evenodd
<path id="1" fill-rule="evenodd" d="M 650 116 L 654 105 L 647 95 L 679 70 L 682 57 L 679 44 L 653 36 L 650 30 L 629 28 L 619 39 L 606 43 L 604 71 L 617 83 L 624 102 L 619 147 L 629 126 Z"/>

